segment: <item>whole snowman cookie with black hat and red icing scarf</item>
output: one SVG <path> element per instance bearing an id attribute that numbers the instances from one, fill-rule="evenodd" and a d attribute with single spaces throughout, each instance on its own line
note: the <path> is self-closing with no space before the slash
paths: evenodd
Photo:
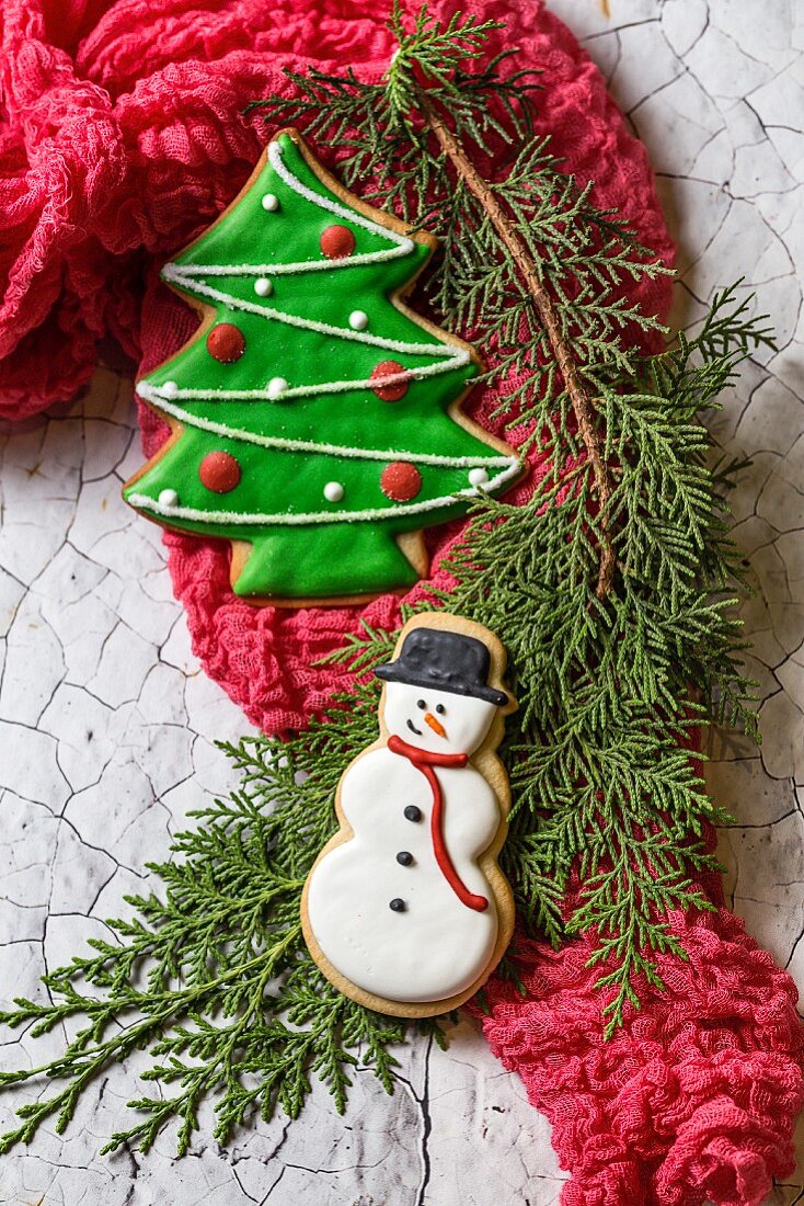
<path id="1" fill-rule="evenodd" d="M 454 1009 L 511 938 L 497 863 L 510 790 L 495 751 L 516 708 L 504 669 L 487 628 L 426 613 L 375 671 L 380 737 L 341 778 L 340 829 L 307 877 L 301 923 L 324 976 L 381 1013 Z"/>

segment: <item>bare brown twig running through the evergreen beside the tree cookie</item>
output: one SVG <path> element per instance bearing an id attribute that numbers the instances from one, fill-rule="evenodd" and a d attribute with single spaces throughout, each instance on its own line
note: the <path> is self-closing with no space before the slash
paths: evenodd
<path id="1" fill-rule="evenodd" d="M 600 531 L 603 535 L 600 568 L 595 593 L 599 599 L 605 598 L 611 587 L 617 564 L 606 525 L 606 508 L 614 492 L 614 481 L 611 469 L 609 468 L 603 452 L 600 435 L 595 425 L 594 405 L 586 391 L 586 386 L 581 381 L 575 357 L 573 355 L 573 349 L 562 332 L 561 318 L 553 299 L 539 280 L 536 265 L 534 264 L 529 251 L 516 233 L 511 218 L 494 195 L 488 181 L 483 180 L 477 169 L 465 156 L 454 134 L 435 111 L 429 98 L 423 90 L 419 92 L 419 104 L 424 121 L 438 139 L 441 150 L 447 156 L 460 178 L 465 182 L 469 191 L 481 203 L 488 213 L 488 218 L 494 229 L 507 250 L 511 252 L 513 262 L 520 270 L 520 275 L 522 276 L 528 293 L 533 299 L 539 320 L 545 328 L 547 339 L 550 340 L 550 345 L 556 356 L 558 368 L 561 369 L 564 379 L 564 385 L 567 386 L 567 393 L 569 394 L 569 399 L 573 405 L 579 435 L 581 437 L 583 447 L 586 449 L 586 455 L 589 459 L 589 464 L 592 466 L 592 472 L 594 473 L 598 504 L 600 508 Z"/>

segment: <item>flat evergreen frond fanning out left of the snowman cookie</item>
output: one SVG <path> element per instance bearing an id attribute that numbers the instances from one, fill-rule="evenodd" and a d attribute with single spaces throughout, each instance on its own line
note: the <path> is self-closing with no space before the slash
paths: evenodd
<path id="1" fill-rule="evenodd" d="M 241 786 L 227 802 L 195 813 L 171 862 L 151 865 L 163 895 L 127 897 L 131 920 L 111 920 L 116 942 L 92 939 L 94 953 L 43 977 L 57 1003 L 17 1000 L 7 1025 L 33 1024 L 34 1037 L 69 1019 L 81 1024 L 57 1059 L 0 1075 L 0 1085 L 36 1082 L 60 1088 L 18 1110 L 19 1125 L 0 1153 L 29 1142 L 55 1116 L 61 1134 L 84 1088 L 111 1062 L 141 1048 L 151 1064 L 142 1079 L 159 1095 L 130 1105 L 140 1118 L 111 1136 L 147 1151 L 169 1123 L 178 1154 L 198 1128 L 199 1106 L 217 1102 L 215 1137 L 278 1105 L 295 1118 L 311 1077 L 324 1082 L 339 1111 L 359 1065 L 392 1090 L 406 1023 L 341 996 L 310 959 L 299 923 L 304 877 L 335 827 L 334 792 L 353 739 L 376 728 L 374 692 L 345 713 L 312 725 L 310 742 L 282 748 L 246 738 L 229 753 Z M 315 773 L 313 773 L 315 772 Z M 303 780 L 303 781 L 301 781 Z M 417 1024 L 442 1042 L 436 1020 Z"/>

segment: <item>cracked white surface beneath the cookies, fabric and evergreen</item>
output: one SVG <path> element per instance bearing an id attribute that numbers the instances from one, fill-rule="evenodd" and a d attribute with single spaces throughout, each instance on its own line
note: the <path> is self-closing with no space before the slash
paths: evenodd
<path id="1" fill-rule="evenodd" d="M 733 502 L 756 589 L 744 614 L 764 742 L 757 753 L 715 736 L 709 775 L 738 822 L 722 835 L 734 907 L 804 984 L 803 12 L 796 0 L 763 5 L 761 21 L 750 0 L 551 7 L 647 144 L 679 245 L 676 321 L 744 273 L 779 335 L 780 351 L 747 367 L 714 425 L 724 450 L 753 462 Z M 1 429 L 0 457 L 0 985 L 35 996 L 43 967 L 105 933 L 123 894 L 142 890 L 143 865 L 188 809 L 230 786 L 212 739 L 246 725 L 189 652 L 157 528 L 121 500 L 140 463 L 130 386 L 101 370 L 66 415 Z M 23 1041 L 22 1059 L 60 1041 Z M 48 1128 L 0 1161 L 0 1201 L 557 1201 L 548 1126 L 471 1025 L 446 1055 L 421 1044 L 401 1058 L 394 1097 L 358 1075 L 344 1120 L 316 1093 L 300 1123 L 259 1125 L 229 1152 L 200 1143 L 176 1163 L 165 1136 L 147 1158 L 100 1159 L 139 1091 L 131 1061 L 87 1097 L 64 1140 Z M 771 1200 L 792 1206 L 803 1185 L 799 1171 Z"/>

